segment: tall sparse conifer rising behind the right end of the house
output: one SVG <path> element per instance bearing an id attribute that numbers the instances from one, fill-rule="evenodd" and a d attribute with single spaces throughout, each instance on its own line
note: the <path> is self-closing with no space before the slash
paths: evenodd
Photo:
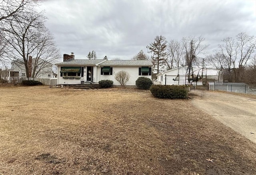
<path id="1" fill-rule="evenodd" d="M 157 74 L 160 72 L 160 70 L 164 69 L 166 64 L 166 57 L 168 56 L 166 47 L 167 41 L 162 35 L 156 36 L 154 42 L 147 46 L 148 52 L 152 53 L 151 61 Z"/>

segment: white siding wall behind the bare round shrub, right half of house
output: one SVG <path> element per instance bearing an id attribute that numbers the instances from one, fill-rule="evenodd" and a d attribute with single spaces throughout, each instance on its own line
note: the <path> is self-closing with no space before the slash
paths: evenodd
<path id="1" fill-rule="evenodd" d="M 138 67 L 112 67 L 113 68 L 113 75 L 100 75 L 100 68 L 98 68 L 98 76 L 100 76 L 100 78 L 98 79 L 100 80 L 112 80 L 114 82 L 114 85 L 120 85 L 120 83 L 118 81 L 116 81 L 115 79 L 115 75 L 119 72 L 119 71 L 126 71 L 130 74 L 130 80 L 127 82 L 127 86 L 136 86 L 136 80 L 139 77 L 146 77 L 149 78 L 151 80 L 151 76 L 139 76 L 139 68 Z"/>

